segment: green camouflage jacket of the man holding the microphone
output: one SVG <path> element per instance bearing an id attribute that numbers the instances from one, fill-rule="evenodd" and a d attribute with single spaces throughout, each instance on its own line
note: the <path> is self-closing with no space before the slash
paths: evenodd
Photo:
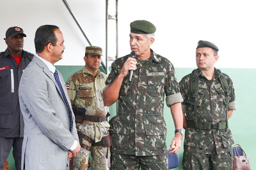
<path id="1" fill-rule="evenodd" d="M 168 107 L 182 102 L 182 97 L 172 63 L 151 52 L 144 65 L 137 63 L 132 81 L 128 74 L 122 82 L 117 115 L 109 121 L 113 127 L 112 151 L 115 153 L 136 156 L 166 153 L 164 93 Z M 106 86 L 115 81 L 127 58 L 129 55 L 112 63 Z"/>

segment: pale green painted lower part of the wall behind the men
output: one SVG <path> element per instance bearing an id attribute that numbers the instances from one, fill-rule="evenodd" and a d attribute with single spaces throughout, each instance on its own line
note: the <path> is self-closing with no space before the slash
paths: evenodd
<path id="1" fill-rule="evenodd" d="M 64 80 L 67 81 L 72 73 L 83 68 L 83 66 L 56 66 L 56 68 L 60 70 Z M 192 72 L 192 70 L 193 68 L 175 68 L 178 81 L 180 81 L 184 75 Z M 234 137 L 234 142 L 243 147 L 249 157 L 251 168 L 256 169 L 256 162 L 254 161 L 256 160 L 256 147 L 254 146 L 254 140 L 256 139 L 256 116 L 253 114 L 256 97 L 256 89 L 254 88 L 256 84 L 256 69 L 221 68 L 221 71 L 231 77 L 236 92 L 237 110 L 234 111 L 228 123 Z M 115 116 L 116 104 L 109 107 L 109 111 L 111 112 L 110 118 Z M 168 128 L 166 144 L 167 148 L 170 148 L 174 137 L 174 125 L 170 108 L 166 105 L 164 106 L 164 120 Z M 182 169 L 182 153 L 183 147 L 178 152 L 180 165 L 176 169 Z M 10 163 L 10 170 L 14 170 L 12 153 L 10 153 L 8 161 Z"/>

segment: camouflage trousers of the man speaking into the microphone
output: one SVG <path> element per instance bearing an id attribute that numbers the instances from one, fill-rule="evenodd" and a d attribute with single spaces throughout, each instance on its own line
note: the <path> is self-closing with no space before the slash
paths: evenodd
<path id="1" fill-rule="evenodd" d="M 166 153 L 166 152 L 165 152 Z M 111 153 L 111 169 L 112 170 L 167 170 L 168 159 L 167 155 L 154 155 L 154 156 L 135 156 L 124 155 L 120 153 Z"/>

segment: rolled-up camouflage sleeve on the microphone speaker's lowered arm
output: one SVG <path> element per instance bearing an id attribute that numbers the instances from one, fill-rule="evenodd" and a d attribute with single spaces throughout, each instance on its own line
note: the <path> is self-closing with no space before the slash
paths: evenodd
<path id="1" fill-rule="evenodd" d="M 180 95 L 179 84 L 175 77 L 175 70 L 172 63 L 169 61 L 166 66 L 164 93 L 166 95 L 166 105 L 170 105 L 182 102 L 183 99 Z"/>

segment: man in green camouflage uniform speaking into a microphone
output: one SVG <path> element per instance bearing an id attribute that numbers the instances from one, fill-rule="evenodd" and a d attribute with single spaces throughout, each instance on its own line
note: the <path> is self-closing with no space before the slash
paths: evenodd
<path id="1" fill-rule="evenodd" d="M 113 127 L 111 169 L 168 169 L 164 93 L 175 128 L 181 130 L 179 84 L 172 63 L 150 49 L 156 27 L 146 20 L 130 26 L 130 46 L 136 58 L 116 59 L 103 93 L 106 105 L 118 100 L 117 115 L 109 121 Z M 131 81 L 129 70 L 134 70 Z M 181 142 L 182 134 L 176 133 L 172 153 L 179 151 Z"/>

